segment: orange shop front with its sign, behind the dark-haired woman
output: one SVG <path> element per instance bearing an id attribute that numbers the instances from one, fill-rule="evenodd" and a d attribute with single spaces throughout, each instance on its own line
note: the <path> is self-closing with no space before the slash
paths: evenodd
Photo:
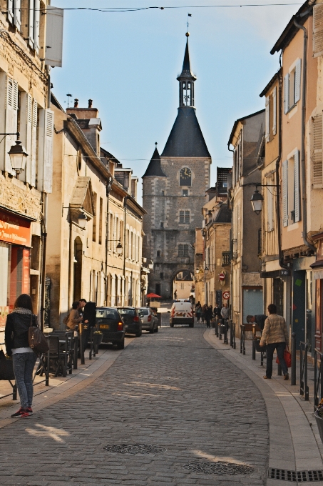
<path id="1" fill-rule="evenodd" d="M 31 219 L 0 209 L 0 330 L 20 294 L 30 293 Z"/>

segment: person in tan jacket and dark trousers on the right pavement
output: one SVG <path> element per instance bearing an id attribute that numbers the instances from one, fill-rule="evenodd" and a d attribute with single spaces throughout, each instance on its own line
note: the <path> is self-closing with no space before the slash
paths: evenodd
<path id="1" fill-rule="evenodd" d="M 284 349 L 288 343 L 287 326 L 284 317 L 277 314 L 277 307 L 275 304 L 268 306 L 269 316 L 265 321 L 265 327 L 262 331 L 260 339 L 260 346 L 266 346 L 267 350 L 267 368 L 265 380 L 270 380 L 272 377 L 272 358 L 275 349 L 280 360 L 280 366 L 284 374 L 284 380 L 289 379 L 287 364 L 284 360 Z"/>

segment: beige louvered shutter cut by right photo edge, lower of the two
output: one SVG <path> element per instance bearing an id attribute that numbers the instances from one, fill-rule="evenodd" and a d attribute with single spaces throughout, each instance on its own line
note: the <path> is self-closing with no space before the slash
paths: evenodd
<path id="1" fill-rule="evenodd" d="M 312 187 L 321 189 L 323 187 L 323 144 L 322 144 L 322 113 L 312 118 L 311 134 L 311 162 L 312 162 Z"/>

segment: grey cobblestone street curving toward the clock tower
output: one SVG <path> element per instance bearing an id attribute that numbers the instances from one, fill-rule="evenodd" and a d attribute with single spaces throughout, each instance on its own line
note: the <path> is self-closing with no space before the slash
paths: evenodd
<path id="1" fill-rule="evenodd" d="M 81 392 L 4 427 L 1 484 L 265 485 L 265 402 L 204 332 L 144 333 Z M 121 444 L 140 446 L 104 449 Z"/>

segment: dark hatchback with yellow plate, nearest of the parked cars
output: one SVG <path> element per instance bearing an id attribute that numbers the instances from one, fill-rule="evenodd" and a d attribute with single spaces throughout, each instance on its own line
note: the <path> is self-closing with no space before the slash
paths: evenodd
<path id="1" fill-rule="evenodd" d="M 125 326 L 117 309 L 96 307 L 96 325 L 103 333 L 102 342 L 116 344 L 119 349 L 125 347 Z"/>

